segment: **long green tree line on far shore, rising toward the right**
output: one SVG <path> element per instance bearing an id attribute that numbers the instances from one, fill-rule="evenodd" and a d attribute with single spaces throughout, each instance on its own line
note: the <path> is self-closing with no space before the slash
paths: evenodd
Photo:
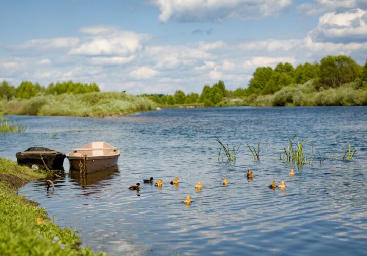
<path id="1" fill-rule="evenodd" d="M 278 63 L 271 67 L 259 67 L 253 73 L 247 88 L 227 90 L 223 81 L 218 81 L 213 86 L 205 85 L 201 94 L 185 93 L 177 90 L 173 95 L 143 94 L 161 105 L 203 104 L 216 106 L 223 98 L 256 98 L 259 95 L 269 95 L 287 86 L 304 84 L 314 79 L 316 87 L 329 89 L 337 88 L 342 84 L 356 81 L 360 84 L 367 81 L 367 61 L 360 66 L 354 59 L 345 55 L 327 56 L 320 63 L 304 63 L 296 68 L 291 63 Z"/>

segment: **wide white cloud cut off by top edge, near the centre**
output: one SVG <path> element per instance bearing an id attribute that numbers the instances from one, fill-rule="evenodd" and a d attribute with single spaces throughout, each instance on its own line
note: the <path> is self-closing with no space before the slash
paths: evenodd
<path id="1" fill-rule="evenodd" d="M 257 19 L 278 16 L 292 0 L 152 0 L 160 22 L 222 22 L 225 19 Z"/>

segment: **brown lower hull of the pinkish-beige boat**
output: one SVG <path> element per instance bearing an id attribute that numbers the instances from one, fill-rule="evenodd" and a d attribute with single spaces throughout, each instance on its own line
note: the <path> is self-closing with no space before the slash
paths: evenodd
<path id="1" fill-rule="evenodd" d="M 102 156 L 102 157 L 71 157 L 68 156 L 70 169 L 78 170 L 79 172 L 94 173 L 98 170 L 103 170 L 117 165 L 119 155 L 114 156 Z M 85 166 L 85 169 L 84 169 Z"/>

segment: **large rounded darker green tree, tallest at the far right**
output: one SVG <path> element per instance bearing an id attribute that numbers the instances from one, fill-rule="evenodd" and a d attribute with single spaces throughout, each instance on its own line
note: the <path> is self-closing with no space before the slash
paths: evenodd
<path id="1" fill-rule="evenodd" d="M 339 87 L 354 81 L 361 67 L 349 56 L 327 56 L 321 59 L 320 82 L 326 87 Z"/>

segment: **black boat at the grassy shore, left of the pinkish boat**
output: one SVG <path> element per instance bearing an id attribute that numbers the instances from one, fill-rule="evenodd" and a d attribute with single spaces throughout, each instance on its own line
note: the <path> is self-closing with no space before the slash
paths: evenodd
<path id="1" fill-rule="evenodd" d="M 46 147 L 30 147 L 25 151 L 16 153 L 18 164 L 29 168 L 33 164 L 43 169 L 63 170 L 66 155 Z"/>

